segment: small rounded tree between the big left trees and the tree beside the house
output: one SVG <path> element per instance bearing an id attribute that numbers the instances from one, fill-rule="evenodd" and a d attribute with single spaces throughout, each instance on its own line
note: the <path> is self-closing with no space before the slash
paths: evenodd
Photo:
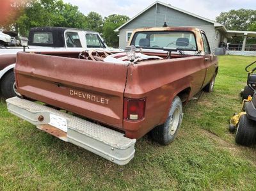
<path id="1" fill-rule="evenodd" d="M 102 33 L 103 19 L 99 13 L 91 11 L 87 15 L 88 29 Z"/>

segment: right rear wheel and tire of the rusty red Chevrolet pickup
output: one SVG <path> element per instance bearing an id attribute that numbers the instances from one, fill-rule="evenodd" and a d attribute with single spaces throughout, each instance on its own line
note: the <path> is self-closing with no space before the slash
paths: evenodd
<path id="1" fill-rule="evenodd" d="M 182 116 L 182 102 L 178 96 L 175 96 L 165 123 L 163 125 L 156 126 L 150 132 L 152 139 L 164 145 L 173 142 L 177 136 L 177 132 L 179 131 Z"/>

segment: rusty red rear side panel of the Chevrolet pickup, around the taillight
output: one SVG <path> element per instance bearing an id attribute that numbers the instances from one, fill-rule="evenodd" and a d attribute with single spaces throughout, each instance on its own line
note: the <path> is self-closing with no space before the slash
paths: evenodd
<path id="1" fill-rule="evenodd" d="M 205 78 L 204 56 L 147 61 L 129 65 L 127 98 L 146 98 L 145 118 L 138 122 L 124 120 L 127 137 L 138 138 L 166 120 L 173 98 L 191 88 L 189 98 L 202 88 Z"/>

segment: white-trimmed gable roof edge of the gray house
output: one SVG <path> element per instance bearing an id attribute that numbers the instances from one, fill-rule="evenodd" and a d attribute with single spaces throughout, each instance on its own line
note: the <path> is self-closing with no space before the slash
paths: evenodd
<path id="1" fill-rule="evenodd" d="M 214 27 L 225 27 L 223 26 L 223 24 L 220 24 L 218 22 L 215 22 L 214 20 L 211 20 L 211 19 L 207 19 L 205 17 L 201 17 L 199 15 L 196 15 L 194 13 L 191 13 L 189 11 L 185 11 L 185 10 L 182 10 L 180 8 L 177 8 L 175 6 L 172 6 L 171 4 L 166 4 L 166 3 L 163 3 L 161 1 L 155 1 L 154 3 L 150 4 L 150 6 L 148 6 L 147 8 L 145 8 L 145 10 L 141 11 L 140 13 L 138 13 L 137 15 L 135 15 L 134 17 L 132 17 L 132 19 L 128 20 L 127 22 L 125 22 L 125 24 L 123 24 L 122 26 L 118 27 L 117 29 L 115 29 L 115 32 L 118 32 L 122 27 L 124 27 L 125 25 L 127 25 L 129 22 L 131 22 L 132 20 L 136 19 L 136 17 L 140 16 L 142 13 L 144 13 L 145 11 L 147 11 L 148 9 L 150 9 L 152 6 L 156 5 L 156 4 L 162 4 L 163 6 L 166 6 L 168 8 L 172 8 L 173 10 L 177 10 L 177 11 L 180 11 L 182 13 L 186 13 L 188 15 L 191 15 L 193 17 L 196 17 L 198 19 L 201 19 L 201 20 L 205 20 L 207 22 L 210 22 L 212 24 L 214 24 Z M 225 31 L 227 31 L 227 29 L 225 29 Z"/>

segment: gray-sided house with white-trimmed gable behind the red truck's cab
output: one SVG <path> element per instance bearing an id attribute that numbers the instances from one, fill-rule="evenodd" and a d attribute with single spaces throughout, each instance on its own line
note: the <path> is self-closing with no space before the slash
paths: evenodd
<path id="1" fill-rule="evenodd" d="M 124 49 L 127 46 L 134 29 L 141 27 L 163 27 L 164 21 L 166 21 L 168 26 L 197 27 L 202 29 L 207 34 L 212 50 L 218 47 L 220 42 L 227 42 L 227 38 L 231 38 L 225 26 L 218 22 L 189 13 L 170 4 L 156 1 L 115 30 L 119 32 L 119 47 Z"/>

